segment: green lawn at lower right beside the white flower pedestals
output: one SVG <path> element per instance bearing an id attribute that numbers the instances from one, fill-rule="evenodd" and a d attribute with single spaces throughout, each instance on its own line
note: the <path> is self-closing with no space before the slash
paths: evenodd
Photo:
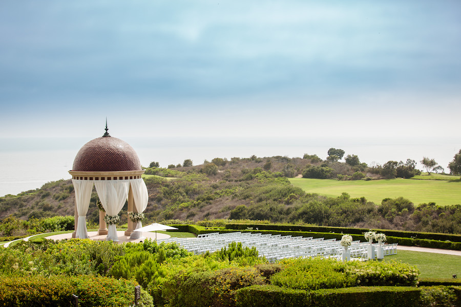
<path id="1" fill-rule="evenodd" d="M 392 259 L 416 266 L 421 278 L 461 276 L 461 256 L 399 250 L 396 255 L 384 257 L 384 261 Z"/>

